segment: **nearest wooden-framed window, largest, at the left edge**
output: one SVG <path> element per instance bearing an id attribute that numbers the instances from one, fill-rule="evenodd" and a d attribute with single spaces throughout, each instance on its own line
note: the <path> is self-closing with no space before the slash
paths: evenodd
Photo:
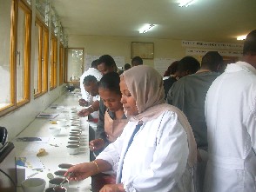
<path id="1" fill-rule="evenodd" d="M 30 5 L 1 1 L 0 115 L 30 101 Z"/>

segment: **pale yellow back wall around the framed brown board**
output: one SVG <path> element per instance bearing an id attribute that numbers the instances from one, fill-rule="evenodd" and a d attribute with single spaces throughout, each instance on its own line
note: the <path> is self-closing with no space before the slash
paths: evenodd
<path id="1" fill-rule="evenodd" d="M 70 48 L 84 48 L 84 56 L 125 56 L 125 63 L 131 64 L 131 42 L 154 43 L 154 58 L 182 58 L 185 47 L 180 40 L 136 38 L 120 36 L 69 36 Z M 85 61 L 85 59 L 84 59 Z M 144 59 L 146 65 L 153 66 L 153 59 Z M 85 63 L 88 64 L 88 63 Z M 91 63 L 89 63 L 91 65 Z"/>

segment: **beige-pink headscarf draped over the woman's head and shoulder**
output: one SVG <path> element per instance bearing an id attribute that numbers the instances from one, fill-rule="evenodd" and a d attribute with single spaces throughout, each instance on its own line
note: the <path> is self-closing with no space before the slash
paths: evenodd
<path id="1" fill-rule="evenodd" d="M 138 108 L 137 116 L 127 116 L 129 121 L 148 122 L 160 116 L 165 110 L 173 111 L 178 115 L 189 144 L 188 164 L 193 167 L 197 162 L 197 145 L 192 128 L 181 110 L 165 103 L 163 80 L 158 71 L 149 66 L 138 65 L 130 70 L 125 70 L 120 77 L 124 78 Z M 125 114 L 127 113 L 125 112 Z"/>

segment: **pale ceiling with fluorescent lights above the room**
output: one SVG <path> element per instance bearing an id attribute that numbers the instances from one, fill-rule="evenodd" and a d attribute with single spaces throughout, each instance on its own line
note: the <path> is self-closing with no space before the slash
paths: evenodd
<path id="1" fill-rule="evenodd" d="M 64 32 L 86 36 L 129 36 L 187 41 L 236 42 L 256 29 L 256 0 L 51 0 Z M 139 34 L 145 23 L 157 24 Z"/>

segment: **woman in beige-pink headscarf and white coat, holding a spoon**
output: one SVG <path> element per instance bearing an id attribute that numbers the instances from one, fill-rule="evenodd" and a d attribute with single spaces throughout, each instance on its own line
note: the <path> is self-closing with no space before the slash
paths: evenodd
<path id="1" fill-rule="evenodd" d="M 117 184 L 100 192 L 192 191 L 196 142 L 185 115 L 164 100 L 162 77 L 148 66 L 120 76 L 121 102 L 129 122 L 123 133 L 93 162 L 78 164 L 71 180 L 117 172 Z"/>

